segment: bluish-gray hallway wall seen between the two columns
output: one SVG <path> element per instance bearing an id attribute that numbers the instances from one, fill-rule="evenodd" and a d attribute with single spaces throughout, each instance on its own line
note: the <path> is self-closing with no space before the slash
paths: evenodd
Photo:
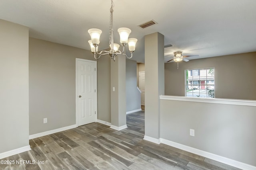
<path id="1" fill-rule="evenodd" d="M 137 63 L 126 59 L 126 112 L 140 109 L 140 92 L 137 89 Z"/>

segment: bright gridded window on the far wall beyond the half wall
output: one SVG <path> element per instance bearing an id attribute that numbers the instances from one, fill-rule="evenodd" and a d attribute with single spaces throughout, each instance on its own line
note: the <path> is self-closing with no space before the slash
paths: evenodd
<path id="1" fill-rule="evenodd" d="M 186 96 L 214 98 L 214 68 L 185 70 Z"/>

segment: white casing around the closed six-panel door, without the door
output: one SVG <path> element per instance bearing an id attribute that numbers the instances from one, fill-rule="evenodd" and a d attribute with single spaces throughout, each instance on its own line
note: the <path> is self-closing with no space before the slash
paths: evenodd
<path id="1" fill-rule="evenodd" d="M 78 61 L 96 63 L 96 120 L 98 118 L 97 61 L 76 58 L 76 127 L 78 127 Z"/>

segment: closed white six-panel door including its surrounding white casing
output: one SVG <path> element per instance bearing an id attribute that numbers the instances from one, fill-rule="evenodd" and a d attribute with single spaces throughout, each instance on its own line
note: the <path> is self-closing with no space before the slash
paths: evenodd
<path id="1" fill-rule="evenodd" d="M 97 121 L 97 62 L 76 59 L 77 125 Z"/>

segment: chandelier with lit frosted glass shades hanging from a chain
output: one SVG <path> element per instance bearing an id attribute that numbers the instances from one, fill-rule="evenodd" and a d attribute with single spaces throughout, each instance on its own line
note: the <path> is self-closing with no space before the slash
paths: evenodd
<path id="1" fill-rule="evenodd" d="M 103 55 L 110 55 L 111 59 L 114 61 L 116 60 L 117 55 L 125 55 L 124 54 L 124 47 L 128 43 L 129 46 L 129 51 L 131 53 L 131 57 L 127 57 L 128 59 L 132 58 L 132 53 L 135 51 L 135 45 L 137 42 L 136 38 L 128 38 L 131 30 L 129 28 L 119 28 L 117 31 L 120 35 L 120 43 L 123 47 L 122 52 L 118 50 L 120 47 L 119 44 L 114 43 L 114 29 L 113 29 L 113 8 L 114 8 L 114 3 L 113 0 L 111 0 L 111 8 L 110 8 L 110 23 L 109 23 L 109 46 L 110 46 L 110 51 L 100 51 L 98 52 L 98 46 L 100 44 L 100 34 L 102 31 L 97 28 L 92 28 L 88 30 L 88 33 L 90 34 L 91 39 L 88 41 L 91 47 L 91 51 L 94 54 L 95 59 L 99 59 Z M 99 55 L 98 57 L 96 57 Z"/>

